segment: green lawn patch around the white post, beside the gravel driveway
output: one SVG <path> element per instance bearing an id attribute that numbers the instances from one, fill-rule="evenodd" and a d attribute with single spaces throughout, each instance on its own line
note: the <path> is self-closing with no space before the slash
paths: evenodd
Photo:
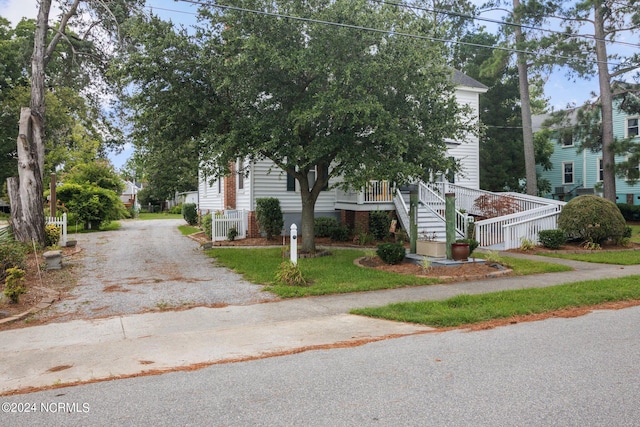
<path id="1" fill-rule="evenodd" d="M 241 273 L 247 280 L 267 285 L 266 291 L 282 298 L 392 289 L 438 282 L 436 279 L 358 267 L 353 261 L 364 256 L 364 251 L 339 249 L 334 250 L 331 256 L 298 260 L 298 266 L 310 286 L 275 285 L 275 274 L 284 259 L 281 248 L 215 248 L 207 251 L 207 254 L 222 265 Z"/>

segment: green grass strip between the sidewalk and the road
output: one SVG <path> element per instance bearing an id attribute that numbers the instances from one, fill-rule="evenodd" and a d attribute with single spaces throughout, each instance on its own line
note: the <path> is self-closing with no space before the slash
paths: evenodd
<path id="1" fill-rule="evenodd" d="M 434 327 L 479 323 L 612 301 L 640 299 L 640 276 L 604 279 L 541 289 L 460 295 L 445 301 L 420 301 L 351 310 L 353 314 Z"/>

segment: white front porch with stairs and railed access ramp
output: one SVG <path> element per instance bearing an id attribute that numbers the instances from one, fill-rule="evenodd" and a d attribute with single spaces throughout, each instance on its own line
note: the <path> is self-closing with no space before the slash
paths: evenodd
<path id="1" fill-rule="evenodd" d="M 520 247 L 527 239 L 538 243 L 538 232 L 555 229 L 565 202 L 520 193 L 492 193 L 448 182 L 417 184 L 419 238 L 445 240 L 445 195 L 455 195 L 456 238 L 472 237 L 480 247 L 504 250 Z M 386 181 L 371 181 L 361 191 L 336 190 L 336 209 L 364 213 L 396 211 L 409 230 L 409 192 L 396 191 Z M 473 223 L 470 227 L 469 224 Z M 473 236 L 469 236 L 469 230 Z"/>

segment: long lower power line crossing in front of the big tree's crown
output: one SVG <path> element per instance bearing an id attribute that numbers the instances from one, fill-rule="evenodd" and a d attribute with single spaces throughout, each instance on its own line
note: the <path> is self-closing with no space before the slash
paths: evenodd
<path id="1" fill-rule="evenodd" d="M 257 14 L 257 15 L 271 16 L 271 17 L 275 17 L 275 18 L 292 19 L 292 20 L 296 20 L 296 21 L 308 22 L 308 23 L 313 23 L 313 24 L 329 25 L 329 26 L 340 27 L 340 28 L 348 28 L 348 29 L 353 29 L 353 30 L 369 31 L 369 32 L 374 32 L 374 33 L 393 34 L 394 36 L 409 37 L 409 38 L 414 38 L 414 39 L 418 39 L 418 40 L 440 42 L 440 43 L 445 43 L 445 44 L 446 43 L 452 43 L 452 44 L 458 44 L 458 45 L 463 45 L 463 46 L 478 47 L 478 48 L 482 48 L 482 49 L 496 49 L 496 50 L 502 50 L 502 51 L 511 52 L 511 53 L 522 53 L 522 54 L 525 54 L 525 55 L 533 55 L 533 56 L 539 55 L 539 53 L 537 53 L 537 52 L 531 52 L 531 51 L 527 51 L 527 50 L 521 50 L 521 49 L 515 49 L 515 48 L 509 48 L 509 47 L 487 46 L 487 45 L 483 45 L 483 44 L 480 44 L 480 43 L 463 42 L 463 41 L 457 41 L 457 40 L 447 40 L 447 39 L 443 39 L 443 38 L 439 38 L 439 37 L 430 37 L 430 36 L 423 36 L 423 35 L 410 34 L 410 33 L 404 33 L 404 32 L 396 32 L 396 31 L 390 31 L 390 30 L 381 30 L 381 29 L 378 29 L 378 28 L 364 27 L 364 26 L 361 26 L 361 25 L 343 24 L 343 23 L 339 23 L 339 22 L 325 21 L 325 20 L 321 20 L 321 19 L 304 18 L 304 17 L 301 17 L 301 16 L 294 16 L 294 15 L 285 15 L 285 14 L 277 13 L 277 12 L 268 12 L 268 11 L 262 11 L 262 10 L 247 9 L 247 8 L 238 7 L 238 6 L 212 4 L 212 3 L 209 3 L 209 2 L 204 2 L 204 1 L 199 1 L 199 0 L 177 0 L 177 1 L 180 1 L 180 2 L 183 2 L 183 3 L 192 3 L 192 4 L 196 4 L 196 5 L 200 5 L 200 6 L 209 6 L 209 7 L 214 7 L 214 8 L 223 9 L 223 10 L 234 10 L 234 11 L 237 11 L 237 12 L 253 13 L 253 14 Z M 595 63 L 595 64 L 603 63 L 603 64 L 607 64 L 607 65 L 612 65 L 612 66 L 622 65 L 620 63 L 615 63 L 615 62 L 589 60 L 589 59 L 585 59 L 585 58 L 575 58 L 575 57 L 570 57 L 570 56 L 566 56 L 566 55 L 544 54 L 544 56 L 546 56 L 548 58 L 563 59 L 563 60 L 569 60 L 569 61 L 579 61 L 579 62 L 585 62 L 585 63 Z"/>

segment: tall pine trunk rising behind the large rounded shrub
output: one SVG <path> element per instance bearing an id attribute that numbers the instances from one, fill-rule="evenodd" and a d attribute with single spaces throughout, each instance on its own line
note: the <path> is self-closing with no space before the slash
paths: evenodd
<path id="1" fill-rule="evenodd" d="M 605 199 L 616 203 L 616 171 L 613 153 L 613 95 L 611 76 L 607 67 L 607 46 L 603 5 L 594 2 L 594 35 L 596 40 L 596 58 L 598 60 L 598 82 L 600 85 L 600 108 L 602 111 L 602 188 Z"/>

